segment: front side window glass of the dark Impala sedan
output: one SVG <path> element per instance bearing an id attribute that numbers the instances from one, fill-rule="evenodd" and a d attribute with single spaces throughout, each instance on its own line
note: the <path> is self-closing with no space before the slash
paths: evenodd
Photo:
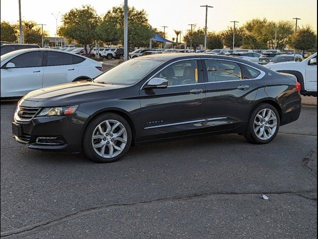
<path id="1" fill-rule="evenodd" d="M 199 83 L 197 61 L 189 60 L 173 63 L 160 71 L 155 77 L 168 80 L 168 86 Z"/>

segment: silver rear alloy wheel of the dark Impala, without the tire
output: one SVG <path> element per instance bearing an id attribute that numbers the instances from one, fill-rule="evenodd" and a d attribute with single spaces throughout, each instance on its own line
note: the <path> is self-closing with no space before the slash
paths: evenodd
<path id="1" fill-rule="evenodd" d="M 261 140 L 271 138 L 277 129 L 277 116 L 270 109 L 262 109 L 254 119 L 254 133 Z"/>

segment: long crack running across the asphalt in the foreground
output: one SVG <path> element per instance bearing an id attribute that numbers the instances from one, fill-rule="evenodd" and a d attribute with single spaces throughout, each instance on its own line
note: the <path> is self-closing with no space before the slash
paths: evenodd
<path id="1" fill-rule="evenodd" d="M 5 238 L 9 237 L 12 235 L 25 235 L 29 234 L 32 232 L 39 231 L 41 229 L 45 229 L 47 227 L 53 226 L 57 223 L 61 223 L 67 220 L 71 220 L 77 217 L 81 217 L 90 213 L 94 212 L 99 212 L 104 209 L 108 208 L 119 208 L 119 207 L 128 207 L 128 206 L 134 206 L 134 205 L 143 205 L 143 204 L 150 204 L 150 203 L 155 203 L 155 202 L 167 202 L 167 201 L 181 201 L 181 200 L 190 200 L 193 198 L 204 198 L 208 196 L 213 196 L 213 195 L 253 195 L 253 194 L 266 194 L 266 195 L 282 195 L 282 194 L 294 194 L 298 195 L 310 200 L 314 200 L 312 198 L 308 198 L 302 193 L 317 193 L 317 189 L 312 189 L 312 190 L 303 190 L 303 191 L 268 191 L 268 192 L 203 192 L 203 193 L 194 193 L 194 194 L 189 194 L 189 195 L 178 195 L 178 196 L 172 196 L 172 197 L 165 197 L 165 198 L 159 198 L 159 199 L 153 199 L 153 200 L 147 200 L 147 201 L 141 201 L 141 202 L 131 202 L 131 203 L 115 203 L 115 204 L 105 204 L 105 205 L 99 205 L 95 207 L 90 207 L 86 209 L 81 209 L 76 212 L 71 212 L 67 213 L 64 215 L 61 215 L 59 217 L 42 221 L 30 226 L 18 228 L 15 230 L 10 230 L 6 232 L 1 232 L 0 237 Z M 317 200 L 316 200 L 317 201 Z"/>

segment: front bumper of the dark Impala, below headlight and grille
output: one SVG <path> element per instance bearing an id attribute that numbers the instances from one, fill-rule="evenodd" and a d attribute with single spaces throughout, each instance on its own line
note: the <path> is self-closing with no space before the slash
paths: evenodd
<path id="1" fill-rule="evenodd" d="M 13 137 L 32 149 L 80 152 L 87 118 L 87 114 L 77 111 L 70 116 L 35 117 L 29 122 L 14 119 L 12 124 L 19 125 L 20 132 Z"/>

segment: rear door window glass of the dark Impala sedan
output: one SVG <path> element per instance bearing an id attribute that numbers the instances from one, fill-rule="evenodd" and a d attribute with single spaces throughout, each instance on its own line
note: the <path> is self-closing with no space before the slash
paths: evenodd
<path id="1" fill-rule="evenodd" d="M 205 60 L 208 82 L 236 81 L 242 79 L 242 71 L 235 62 Z"/>

